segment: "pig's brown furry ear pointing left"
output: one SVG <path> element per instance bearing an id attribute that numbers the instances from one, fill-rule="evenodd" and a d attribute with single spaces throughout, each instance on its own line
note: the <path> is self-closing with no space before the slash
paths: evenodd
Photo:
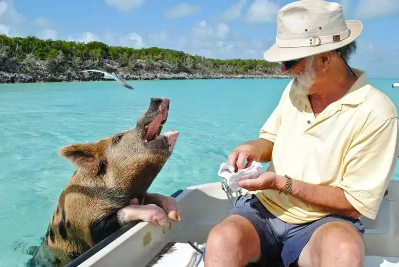
<path id="1" fill-rule="evenodd" d="M 93 143 L 63 146 L 60 148 L 59 154 L 76 167 L 85 166 L 95 161 L 94 146 L 95 144 Z"/>

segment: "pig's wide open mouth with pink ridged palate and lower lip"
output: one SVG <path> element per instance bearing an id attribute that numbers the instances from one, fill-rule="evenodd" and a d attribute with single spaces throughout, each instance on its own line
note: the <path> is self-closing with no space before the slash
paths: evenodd
<path id="1" fill-rule="evenodd" d="M 146 133 L 144 138 L 146 142 L 151 142 L 159 136 L 166 136 L 170 145 L 170 151 L 172 151 L 173 147 L 175 146 L 179 132 L 171 130 L 161 135 L 162 128 L 164 127 L 164 124 L 168 119 L 168 112 L 169 99 L 163 99 L 162 104 L 159 107 L 157 116 L 155 116 L 155 118 L 145 127 Z"/>

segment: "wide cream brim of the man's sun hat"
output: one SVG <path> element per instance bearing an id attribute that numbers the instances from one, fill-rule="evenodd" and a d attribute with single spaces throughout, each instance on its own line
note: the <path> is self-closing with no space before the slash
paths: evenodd
<path id="1" fill-rule="evenodd" d="M 264 52 L 263 57 L 266 61 L 269 62 L 281 62 L 281 61 L 303 58 L 327 51 L 332 51 L 340 47 L 343 47 L 354 41 L 356 38 L 358 38 L 363 30 L 363 24 L 359 20 L 346 20 L 345 22 L 350 30 L 350 34 L 346 39 L 340 42 L 327 43 L 319 46 L 304 46 L 304 47 L 289 47 L 289 48 L 278 47 L 274 43 L 269 49 L 267 49 Z"/>

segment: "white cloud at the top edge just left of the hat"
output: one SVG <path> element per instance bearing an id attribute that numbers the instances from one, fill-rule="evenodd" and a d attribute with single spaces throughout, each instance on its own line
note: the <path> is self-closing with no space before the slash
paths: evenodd
<path id="1" fill-rule="evenodd" d="M 275 22 L 280 5 L 275 0 L 255 0 L 246 13 L 246 21 L 251 23 Z"/>

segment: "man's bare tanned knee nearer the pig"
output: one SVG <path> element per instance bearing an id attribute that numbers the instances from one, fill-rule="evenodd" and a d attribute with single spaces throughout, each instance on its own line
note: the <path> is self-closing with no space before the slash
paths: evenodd
<path id="1" fill-rule="evenodd" d="M 231 215 L 210 231 L 205 255 L 205 262 L 206 258 L 227 256 L 247 263 L 260 257 L 260 239 L 247 219 Z"/>

